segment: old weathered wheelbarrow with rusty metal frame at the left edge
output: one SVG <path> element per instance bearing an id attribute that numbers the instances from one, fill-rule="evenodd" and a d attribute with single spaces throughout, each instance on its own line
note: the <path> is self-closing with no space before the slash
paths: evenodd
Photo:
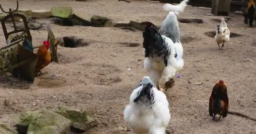
<path id="1" fill-rule="evenodd" d="M 25 80 L 34 81 L 35 66 L 37 63 L 37 55 L 33 53 L 33 49 L 37 47 L 32 46 L 32 36 L 29 31 L 27 18 L 19 13 L 14 13 L 19 8 L 19 3 L 17 1 L 17 8 L 15 10 L 9 9 L 9 12 L 3 10 L 0 5 L 1 10 L 4 13 L 9 13 L 1 20 L 3 27 L 3 32 L 5 34 L 5 40 L 7 41 L 7 46 L 0 49 L 0 72 L 4 73 L 11 72 L 13 76 L 23 78 Z M 24 22 L 24 29 L 17 29 L 14 21 L 14 17 L 20 17 Z M 14 30 L 7 32 L 5 22 L 11 18 L 13 22 Z M 48 40 L 51 44 L 51 52 L 53 53 L 53 61 L 58 62 L 56 48 L 54 45 L 54 36 L 48 22 Z"/>

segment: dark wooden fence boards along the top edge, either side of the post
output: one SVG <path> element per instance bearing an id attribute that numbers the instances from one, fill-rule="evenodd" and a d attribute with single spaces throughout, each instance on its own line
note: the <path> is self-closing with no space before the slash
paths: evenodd
<path id="1" fill-rule="evenodd" d="M 159 1 L 160 3 L 180 3 L 180 0 L 153 0 Z M 211 8 L 212 0 L 189 0 L 189 5 L 196 7 L 206 7 Z M 241 11 L 241 8 L 245 8 L 249 0 L 231 0 L 230 11 Z"/>

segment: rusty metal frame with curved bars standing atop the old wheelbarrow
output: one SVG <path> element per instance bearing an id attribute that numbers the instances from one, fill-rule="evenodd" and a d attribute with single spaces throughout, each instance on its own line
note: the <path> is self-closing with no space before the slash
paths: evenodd
<path id="1" fill-rule="evenodd" d="M 1 24 L 2 24 L 2 27 L 3 27 L 3 33 L 5 35 L 5 40 L 7 41 L 8 40 L 8 37 L 13 34 L 13 33 L 19 33 L 19 32 L 25 32 L 27 33 L 27 37 L 28 37 L 28 40 L 32 43 L 32 36 L 30 34 L 30 31 L 29 31 L 29 26 L 28 26 L 28 23 L 27 23 L 27 18 L 20 14 L 20 13 L 14 13 L 15 11 L 18 10 L 19 8 L 19 1 L 17 0 L 17 7 L 15 10 L 12 10 L 11 8 L 9 8 L 9 12 L 3 10 L 1 4 L 0 4 L 0 8 L 1 10 L 4 12 L 4 13 L 8 13 L 9 15 L 5 16 L 2 20 L 1 20 Z M 14 21 L 14 17 L 20 17 L 23 19 L 23 23 L 24 23 L 24 26 L 25 26 L 25 29 L 17 29 L 16 28 L 16 24 L 15 24 L 15 21 Z M 11 31 L 8 33 L 7 31 L 7 28 L 5 26 L 5 22 L 7 21 L 8 18 L 11 18 L 12 22 L 13 22 L 13 27 L 14 27 L 14 31 Z"/>

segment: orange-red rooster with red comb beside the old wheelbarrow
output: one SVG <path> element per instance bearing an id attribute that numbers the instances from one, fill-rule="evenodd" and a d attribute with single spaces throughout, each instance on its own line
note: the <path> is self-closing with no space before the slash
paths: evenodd
<path id="1" fill-rule="evenodd" d="M 41 70 L 51 63 L 51 52 L 49 51 L 50 43 L 48 41 L 43 41 L 43 44 L 39 47 L 37 51 L 37 64 L 35 67 L 35 72 L 41 73 Z"/>

